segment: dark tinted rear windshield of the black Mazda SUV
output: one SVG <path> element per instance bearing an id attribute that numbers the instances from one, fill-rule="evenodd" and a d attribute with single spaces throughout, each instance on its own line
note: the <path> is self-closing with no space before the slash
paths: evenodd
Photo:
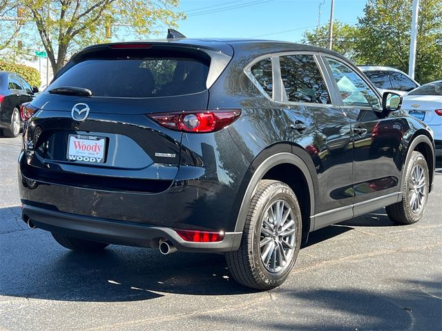
<path id="1" fill-rule="evenodd" d="M 184 57 L 88 59 L 49 87 L 88 88 L 94 97 L 166 97 L 206 89 L 208 63 Z"/>

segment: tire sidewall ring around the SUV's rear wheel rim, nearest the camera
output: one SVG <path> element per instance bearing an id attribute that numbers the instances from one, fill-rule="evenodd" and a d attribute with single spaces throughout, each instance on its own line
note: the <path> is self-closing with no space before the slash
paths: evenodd
<path id="1" fill-rule="evenodd" d="M 282 284 L 285 279 L 289 276 L 289 273 L 294 267 L 296 262 L 296 258 L 298 257 L 298 252 L 300 249 L 300 241 L 301 241 L 301 233 L 302 233 L 302 221 L 301 221 L 301 213 L 298 201 L 296 200 L 296 196 L 293 191 L 283 183 L 273 183 L 269 187 L 269 191 L 265 195 L 264 199 L 260 201 L 258 205 L 258 210 L 256 214 L 253 215 L 253 223 L 255 224 L 253 227 L 253 240 L 252 240 L 252 254 L 253 254 L 253 264 L 260 281 L 271 286 L 276 287 Z M 294 252 L 291 255 L 291 261 L 287 268 L 284 268 L 280 272 L 269 272 L 264 264 L 261 261 L 261 252 L 260 252 L 260 232 L 262 227 L 262 222 L 264 221 L 264 213 L 267 211 L 269 206 L 277 200 L 285 201 L 293 211 L 294 217 L 296 218 L 296 245 L 294 248 Z"/>

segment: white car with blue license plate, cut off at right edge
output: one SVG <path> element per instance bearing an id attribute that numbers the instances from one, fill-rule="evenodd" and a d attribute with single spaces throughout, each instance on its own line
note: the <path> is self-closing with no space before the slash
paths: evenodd
<path id="1" fill-rule="evenodd" d="M 436 156 L 441 157 L 442 80 L 424 84 L 405 94 L 402 109 L 432 128 L 436 145 Z"/>

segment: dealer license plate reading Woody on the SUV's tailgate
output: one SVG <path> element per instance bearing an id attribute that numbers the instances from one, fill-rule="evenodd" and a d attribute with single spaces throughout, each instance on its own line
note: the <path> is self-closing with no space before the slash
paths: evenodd
<path id="1" fill-rule="evenodd" d="M 69 134 L 67 158 L 69 161 L 104 163 L 105 148 L 105 137 Z"/>

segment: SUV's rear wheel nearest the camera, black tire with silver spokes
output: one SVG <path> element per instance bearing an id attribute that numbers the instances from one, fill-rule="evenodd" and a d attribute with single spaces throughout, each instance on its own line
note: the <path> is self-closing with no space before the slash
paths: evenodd
<path id="1" fill-rule="evenodd" d="M 278 201 L 283 202 L 282 211 L 284 211 L 286 206 L 287 208 L 291 208 L 290 210 L 292 214 L 289 214 L 289 217 L 291 217 L 291 221 L 294 221 L 294 225 L 292 225 L 289 230 L 294 232 L 287 237 L 280 237 L 279 234 L 276 234 L 278 232 L 274 232 L 273 239 L 271 239 L 271 237 L 262 237 L 262 231 L 265 230 L 265 226 L 269 225 L 270 220 L 270 218 L 267 219 L 267 216 L 270 215 L 267 214 L 267 211 L 272 208 L 271 206 L 276 205 Z M 283 215 L 284 213 L 282 213 L 282 216 Z M 286 219 L 288 219 L 288 217 Z M 263 225 L 263 223 L 267 225 Z M 273 224 L 274 223 L 275 221 L 273 221 Z M 228 252 L 226 254 L 227 265 L 233 279 L 244 286 L 258 290 L 270 290 L 284 283 L 298 257 L 302 234 L 301 227 L 302 221 L 298 199 L 296 199 L 296 195 L 291 188 L 280 181 L 260 181 L 256 193 L 252 198 L 249 212 L 247 213 L 240 248 L 234 252 Z M 282 232 L 287 232 L 287 230 L 284 231 L 282 229 L 279 233 L 282 234 Z M 292 248 L 287 248 L 287 246 L 282 244 L 284 238 L 286 240 L 289 238 L 295 240 L 294 243 L 292 242 Z M 271 260 L 267 263 L 267 266 L 265 266 L 265 263 L 262 261 L 262 259 L 265 259 L 265 257 L 262 257 L 265 252 L 261 252 L 260 248 L 260 243 L 263 243 L 264 240 L 273 241 L 274 248 L 272 248 L 272 253 L 269 253 L 269 250 L 266 255 L 268 256 L 269 254 L 272 254 Z M 269 243 L 269 241 L 267 241 L 267 243 Z M 280 248 L 283 247 L 286 247 L 287 250 L 289 250 L 289 257 L 287 257 L 285 265 L 277 272 L 270 272 L 268 268 L 270 268 L 269 264 L 273 261 L 273 257 L 275 258 L 275 261 L 281 263 L 282 259 L 280 257 L 282 257 L 282 255 Z M 267 244 L 263 246 L 263 250 L 266 250 L 266 248 Z M 279 252 L 277 250 L 279 250 Z M 285 255 L 284 252 L 282 254 Z M 276 259 L 276 257 L 278 257 L 278 259 Z M 273 267 L 274 266 L 275 264 L 273 264 Z"/>

